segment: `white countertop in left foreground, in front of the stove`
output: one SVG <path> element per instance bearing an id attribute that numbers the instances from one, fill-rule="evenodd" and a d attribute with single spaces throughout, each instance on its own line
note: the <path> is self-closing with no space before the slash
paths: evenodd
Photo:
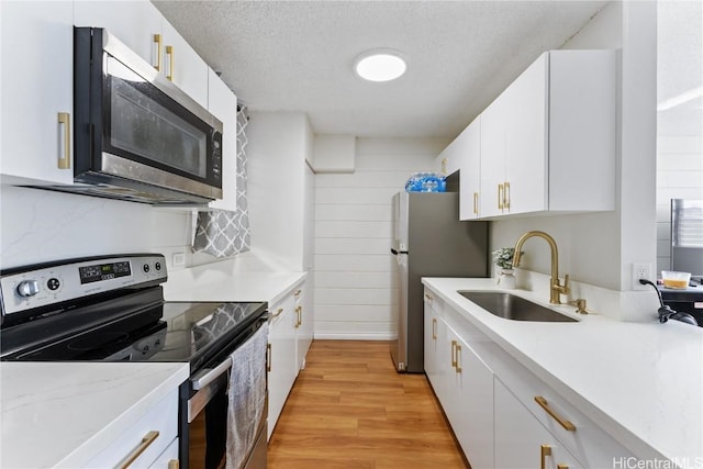
<path id="1" fill-rule="evenodd" d="M 0 467 L 83 467 L 188 373 L 188 364 L 3 361 Z"/>

